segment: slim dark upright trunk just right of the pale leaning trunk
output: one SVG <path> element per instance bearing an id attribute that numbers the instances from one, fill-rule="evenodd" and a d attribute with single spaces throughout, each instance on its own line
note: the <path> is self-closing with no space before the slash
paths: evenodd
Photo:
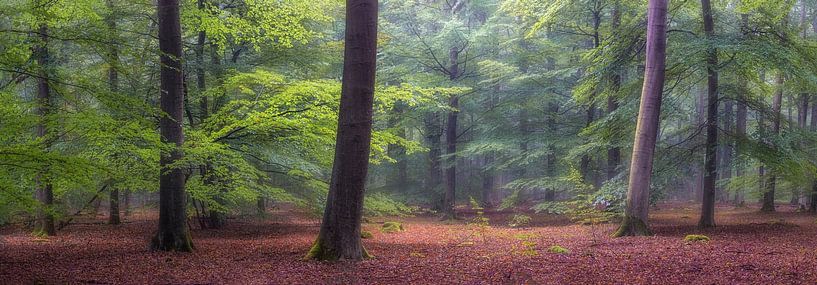
<path id="1" fill-rule="evenodd" d="M 701 11 L 707 40 L 712 41 L 715 35 L 715 23 L 712 19 L 712 5 L 709 0 L 701 0 Z M 698 221 L 698 226 L 702 228 L 715 226 L 715 181 L 718 179 L 718 51 L 714 47 L 707 49 L 706 65 L 706 158 L 701 219 Z"/>

